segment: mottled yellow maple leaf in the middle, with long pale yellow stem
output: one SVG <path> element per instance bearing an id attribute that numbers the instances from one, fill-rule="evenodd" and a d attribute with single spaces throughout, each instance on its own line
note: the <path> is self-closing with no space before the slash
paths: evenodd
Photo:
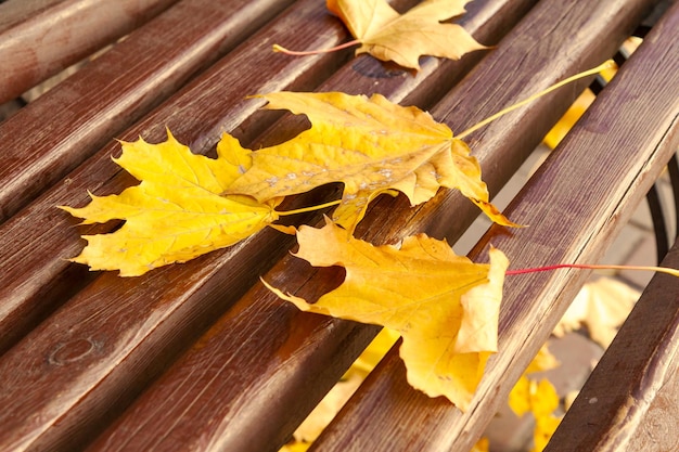
<path id="1" fill-rule="evenodd" d="M 469 146 L 428 113 L 380 94 L 274 92 L 264 98 L 270 109 L 307 115 L 312 127 L 253 153 L 252 168 L 227 193 L 265 202 L 344 182 L 333 220 L 353 231 L 381 193 L 397 190 L 414 206 L 445 186 L 460 190 L 497 223 L 516 225 L 488 203 Z"/>

